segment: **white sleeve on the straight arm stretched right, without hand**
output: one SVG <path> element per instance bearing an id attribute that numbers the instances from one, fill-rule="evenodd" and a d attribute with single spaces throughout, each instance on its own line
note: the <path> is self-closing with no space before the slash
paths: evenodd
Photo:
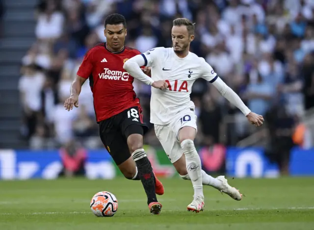
<path id="1" fill-rule="evenodd" d="M 233 91 L 222 79 L 218 77 L 212 84 L 218 89 L 222 96 L 240 109 L 245 116 L 251 112 L 235 91 Z"/>

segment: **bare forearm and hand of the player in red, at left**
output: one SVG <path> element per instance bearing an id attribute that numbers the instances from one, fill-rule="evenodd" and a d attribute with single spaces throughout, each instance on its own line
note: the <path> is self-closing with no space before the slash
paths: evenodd
<path id="1" fill-rule="evenodd" d="M 64 107 L 68 111 L 73 109 L 73 106 L 78 107 L 78 95 L 82 89 L 82 85 L 86 81 L 86 78 L 77 76 L 70 88 L 70 97 L 64 102 Z"/>

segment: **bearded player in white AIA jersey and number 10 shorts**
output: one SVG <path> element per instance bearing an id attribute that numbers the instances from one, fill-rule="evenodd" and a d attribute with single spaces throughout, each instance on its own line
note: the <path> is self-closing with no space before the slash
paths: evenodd
<path id="1" fill-rule="evenodd" d="M 239 108 L 252 124 L 261 126 L 263 117 L 251 112 L 204 58 L 189 52 L 190 42 L 194 39 L 191 21 L 185 18 L 174 20 L 171 36 L 173 48 L 158 47 L 136 55 L 126 61 L 123 68 L 131 76 L 153 86 L 150 121 L 171 163 L 183 179 L 189 179 L 193 184 L 194 199 L 187 209 L 195 212 L 203 210 L 203 184 L 240 201 L 242 195 L 228 184 L 224 176 L 212 178 L 201 169 L 201 159 L 194 146 L 197 116 L 195 105 L 190 100 L 192 85 L 202 77 Z M 151 67 L 152 77 L 143 73 L 140 66 Z"/>

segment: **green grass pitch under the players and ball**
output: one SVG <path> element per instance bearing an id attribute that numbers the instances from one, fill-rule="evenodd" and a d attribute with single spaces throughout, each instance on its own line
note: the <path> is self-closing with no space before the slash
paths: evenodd
<path id="1" fill-rule="evenodd" d="M 313 230 L 314 178 L 229 179 L 245 194 L 237 202 L 204 186 L 205 211 L 191 213 L 192 184 L 161 179 L 162 212 L 149 213 L 140 181 L 58 179 L 0 181 L 0 230 Z M 99 191 L 116 195 L 114 217 L 89 207 Z"/>

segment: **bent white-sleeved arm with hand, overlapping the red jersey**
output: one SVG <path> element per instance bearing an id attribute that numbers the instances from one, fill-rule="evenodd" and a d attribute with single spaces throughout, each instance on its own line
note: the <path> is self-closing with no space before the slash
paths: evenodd
<path id="1" fill-rule="evenodd" d="M 165 81 L 154 81 L 151 77 L 148 77 L 146 74 L 144 74 L 140 68 L 140 66 L 144 65 L 145 59 L 141 54 L 139 54 L 127 60 L 123 65 L 123 69 L 125 69 L 132 77 L 144 82 L 147 85 L 151 85 L 161 90 L 168 87 Z"/>

